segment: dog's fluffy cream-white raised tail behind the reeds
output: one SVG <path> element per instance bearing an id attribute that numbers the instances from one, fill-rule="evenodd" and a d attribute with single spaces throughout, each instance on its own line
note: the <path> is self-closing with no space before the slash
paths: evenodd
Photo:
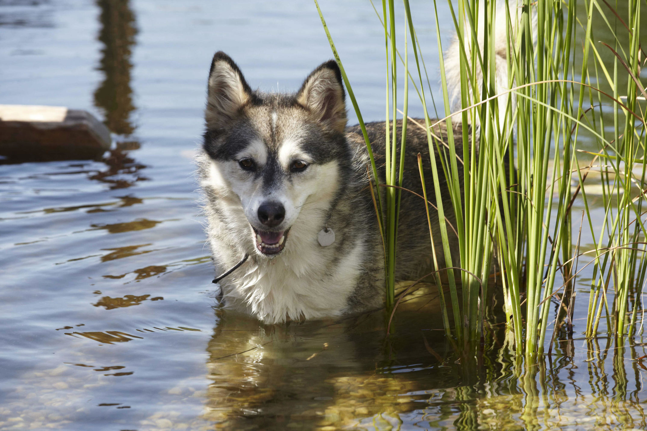
<path id="1" fill-rule="evenodd" d="M 507 0 L 510 8 L 510 22 L 512 23 L 513 29 L 512 34 L 516 39 L 517 34 L 521 29 L 521 0 Z M 485 15 L 483 5 L 485 0 L 481 1 L 481 10 L 479 10 L 479 17 Z M 534 15 L 534 14 L 533 14 Z M 534 28 L 534 23 L 531 24 Z M 465 45 L 465 53 L 470 58 L 470 45 L 472 45 L 472 35 L 469 30 L 469 23 L 465 22 L 465 37 L 463 38 L 463 43 Z M 481 53 L 483 52 L 483 33 L 484 33 L 483 19 L 479 18 L 478 29 L 477 29 L 477 46 Z M 534 37 L 533 37 L 534 39 Z M 514 40 L 514 39 L 513 39 Z M 496 94 L 502 94 L 499 97 L 499 125 L 503 125 L 505 120 L 505 109 L 508 103 L 509 93 L 503 94 L 505 91 L 509 90 L 509 79 L 508 79 L 508 61 L 507 61 L 507 45 L 508 45 L 508 27 L 507 27 L 507 17 L 505 12 L 505 3 L 504 1 L 499 0 L 496 7 L 496 21 L 494 27 L 494 55 L 495 55 L 495 70 L 494 76 L 496 81 Z M 510 49 L 514 48 L 514 41 L 510 43 Z M 455 112 L 461 109 L 461 51 L 460 43 L 458 36 L 454 35 L 450 47 L 445 52 L 444 56 L 444 67 L 445 75 L 447 77 L 447 88 L 450 98 L 450 108 L 452 112 Z M 486 61 L 487 59 L 483 59 Z M 478 91 L 481 92 L 481 83 L 483 82 L 483 72 L 479 65 L 476 65 L 476 76 L 474 80 L 477 83 Z M 468 100 L 473 100 L 471 98 L 471 87 L 470 87 L 470 97 Z M 514 109 L 515 98 L 512 96 L 512 108 Z M 460 116 L 454 116 L 454 120 L 460 121 Z M 471 119 L 470 119 L 471 121 Z M 476 124 L 478 127 L 479 118 L 476 116 Z"/>

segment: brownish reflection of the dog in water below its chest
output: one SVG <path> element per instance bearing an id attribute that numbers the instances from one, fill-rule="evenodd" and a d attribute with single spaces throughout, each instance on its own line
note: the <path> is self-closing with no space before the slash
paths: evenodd
<path id="1" fill-rule="evenodd" d="M 204 419 L 236 430 L 395 425 L 399 414 L 424 408 L 428 395 L 408 394 L 426 389 L 421 377 L 430 383 L 432 346 L 442 353 L 442 331 L 421 331 L 442 325 L 431 317 L 440 315 L 435 292 L 421 289 L 401 304 L 395 326 L 403 331 L 388 339 L 384 310 L 280 325 L 217 310 Z M 402 372 L 411 364 L 418 371 Z"/>

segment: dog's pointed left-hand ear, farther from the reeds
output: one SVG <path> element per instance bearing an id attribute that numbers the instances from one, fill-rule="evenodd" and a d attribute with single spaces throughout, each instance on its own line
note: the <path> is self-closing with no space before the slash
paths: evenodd
<path id="1" fill-rule="evenodd" d="M 209 70 L 204 120 L 209 129 L 221 129 L 252 98 L 252 90 L 234 60 L 222 51 L 214 55 Z"/>

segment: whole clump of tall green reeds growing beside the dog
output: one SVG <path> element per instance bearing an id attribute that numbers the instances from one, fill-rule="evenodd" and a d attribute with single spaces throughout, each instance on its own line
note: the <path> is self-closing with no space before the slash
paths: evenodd
<path id="1" fill-rule="evenodd" d="M 646 117 L 644 103 L 640 105 L 647 94 L 639 79 L 645 61 L 640 45 L 641 7 L 647 6 L 641 5 L 641 0 L 629 0 L 628 13 L 621 17 L 617 3 L 611 5 L 608 0 L 448 1 L 460 54 L 460 104 L 452 107 L 437 1 L 441 0 L 434 0 L 433 5 L 444 101 L 444 118 L 439 120 L 428 114 L 422 53 L 410 4 L 403 0 L 403 58 L 395 39 L 393 0 L 382 1 L 380 22 L 387 71 L 386 187 L 384 207 L 380 203 L 376 209 L 383 223 L 380 233 L 385 244 L 387 305 L 392 306 L 394 298 L 402 193 L 390 186 L 402 184 L 411 81 L 424 112 L 438 219 L 444 220 L 450 210 L 456 215 L 457 255 L 450 253 L 446 224 L 439 223 L 441 238 L 435 238 L 435 243 L 430 226 L 432 244 L 443 247 L 445 258 L 438 262 L 433 248 L 433 269 L 463 269 L 446 271 L 450 301 L 443 300 L 443 320 L 447 333 L 459 346 L 474 346 L 483 336 L 489 306 L 486 280 L 492 280 L 496 258 L 504 301 L 499 305 L 501 310 L 494 311 L 505 314 L 517 354 L 524 353 L 527 358 L 542 354 L 549 326 L 572 324 L 576 277 L 584 269 L 578 265 L 580 258 L 586 257 L 593 272 L 584 328 L 587 337 L 598 333 L 603 317 L 609 333 L 632 335 L 639 322 L 642 325 L 641 293 L 647 273 L 641 218 L 646 212 Z M 602 25 L 613 35 L 613 46 L 595 39 L 594 30 Z M 501 31 L 506 42 L 503 58 L 507 64 L 503 67 L 507 82 L 499 78 L 502 53 L 500 45 L 495 46 Z M 623 31 L 627 37 L 622 36 Z M 326 32 L 341 67 L 327 28 Z M 628 46 L 621 39 L 628 39 Z M 409 70 L 409 43 L 417 76 Z M 399 165 L 395 132 L 398 59 L 404 64 L 405 87 Z M 424 63 L 422 68 L 426 76 Z M 344 81 L 363 127 L 345 74 Z M 604 109 L 613 109 L 612 127 L 605 121 Z M 442 138 L 448 148 L 432 132 L 439 121 L 446 121 L 448 136 Z M 456 154 L 456 139 L 465 143 L 462 154 Z M 585 154 L 591 151 L 578 145 L 580 140 L 596 143 L 593 160 Z M 377 185 L 375 162 L 366 142 Z M 442 171 L 437 168 L 437 158 Z M 441 176 L 447 178 L 443 188 Z M 587 188 L 596 181 L 602 191 L 602 210 L 593 207 L 587 196 Z M 452 208 L 443 207 L 443 195 L 450 197 Z M 583 223 L 579 235 L 582 229 L 588 230 L 594 241 L 593 249 L 585 252 L 580 250 L 580 238 L 573 238 L 576 201 L 584 207 L 576 216 L 577 223 Z M 578 244 L 575 249 L 573 242 Z M 456 258 L 459 262 L 453 261 Z M 611 293 L 613 302 L 609 303 Z M 551 317 L 551 303 L 559 306 L 556 317 Z M 454 316 L 451 323 L 449 311 Z"/>

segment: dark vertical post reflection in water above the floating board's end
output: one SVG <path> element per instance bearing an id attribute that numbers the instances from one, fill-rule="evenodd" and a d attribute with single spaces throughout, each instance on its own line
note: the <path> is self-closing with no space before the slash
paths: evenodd
<path id="1" fill-rule="evenodd" d="M 135 131 L 130 122 L 133 90 L 130 87 L 130 57 L 135 43 L 135 14 L 129 0 L 97 0 L 101 8 L 101 30 L 98 39 L 104 44 L 99 70 L 105 78 L 94 92 L 94 105 L 102 109 L 105 125 L 116 134 L 129 135 Z"/>

